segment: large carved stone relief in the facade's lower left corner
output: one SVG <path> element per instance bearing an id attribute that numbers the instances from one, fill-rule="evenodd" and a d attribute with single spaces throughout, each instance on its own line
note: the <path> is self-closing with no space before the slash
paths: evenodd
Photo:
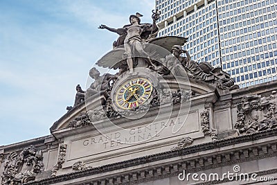
<path id="1" fill-rule="evenodd" d="M 12 152 L 3 165 L 2 184 L 24 184 L 35 180 L 37 174 L 44 170 L 42 159 L 42 151 L 34 146 Z"/>

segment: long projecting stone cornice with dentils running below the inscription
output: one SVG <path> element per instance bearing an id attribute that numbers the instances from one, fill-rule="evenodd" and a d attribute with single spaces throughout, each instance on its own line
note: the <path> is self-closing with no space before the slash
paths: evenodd
<path id="1" fill-rule="evenodd" d="M 238 144 L 238 143 L 245 143 L 248 141 L 256 141 L 258 139 L 264 139 L 270 136 L 277 136 L 277 129 L 274 130 L 268 130 L 265 132 L 258 132 L 255 134 L 249 134 L 249 135 L 244 135 L 244 136 L 237 136 L 234 138 L 230 138 L 230 139 L 223 139 L 220 141 L 214 141 L 211 143 L 203 143 L 197 146 L 191 146 L 188 148 L 184 148 L 182 150 L 175 150 L 175 151 L 168 151 L 168 152 L 161 152 L 159 154 L 156 155 L 148 155 L 145 157 L 139 157 L 136 159 L 130 159 L 127 161 L 121 161 L 118 163 L 114 163 L 114 164 L 108 164 L 105 166 L 99 166 L 96 168 L 91 168 L 88 170 L 82 170 L 79 172 L 75 172 L 75 173 L 68 173 L 68 174 L 64 174 L 64 175 L 59 175 L 57 177 L 51 177 L 48 179 L 42 179 L 40 181 L 37 182 L 30 182 L 28 184 L 32 184 L 32 185 L 39 185 L 39 184 L 55 184 L 57 182 L 64 182 L 66 180 L 69 179 L 77 179 L 80 177 L 87 177 L 89 175 L 96 175 L 99 173 L 105 173 L 105 172 L 109 172 L 112 170 L 120 170 L 123 168 L 128 168 L 131 166 L 137 166 L 137 165 L 141 165 L 141 164 L 147 164 L 153 161 L 161 161 L 164 159 L 170 159 L 173 157 L 180 157 L 183 155 L 189 155 L 195 152 L 202 152 L 205 150 L 213 150 L 215 148 L 222 148 L 224 146 L 231 146 L 234 144 Z M 226 152 L 225 154 L 219 154 L 218 156 L 215 156 L 215 154 L 213 153 L 213 156 L 206 156 L 205 161 L 203 160 L 203 157 L 199 156 L 199 159 L 193 159 L 191 161 L 179 161 L 179 164 L 170 164 L 168 166 L 160 166 L 159 168 L 157 168 L 155 170 L 155 174 L 157 176 L 157 178 L 163 178 L 166 176 L 175 176 L 177 174 L 177 172 L 179 172 L 179 170 L 182 169 L 186 169 L 188 168 L 188 170 L 202 170 L 203 168 L 216 168 L 219 166 L 224 166 L 224 165 L 230 165 L 230 164 L 235 164 L 238 161 L 240 161 L 240 159 L 243 159 L 242 161 L 251 161 L 254 159 L 262 159 L 265 157 L 271 157 L 271 156 L 275 156 L 276 155 L 276 141 L 272 141 L 274 143 L 274 145 L 269 145 L 268 143 L 264 146 L 260 146 L 259 148 L 257 148 L 256 146 L 249 146 L 248 148 L 244 149 L 244 151 L 242 152 L 242 149 L 238 149 L 238 151 L 236 151 L 236 149 L 234 148 L 233 151 L 229 151 Z M 222 151 L 224 152 L 224 151 Z M 230 153 L 231 152 L 231 153 Z M 251 157 L 250 156 L 251 153 Z M 243 157 L 241 158 L 240 155 L 243 155 Z M 224 158 L 224 159 L 222 159 Z M 231 159 L 233 158 L 233 159 Z M 196 165 L 196 161 L 197 161 L 197 165 Z M 163 165 L 163 164 L 161 164 Z M 166 173 L 162 173 L 161 171 L 166 170 Z M 127 175 L 127 179 L 126 182 L 130 182 L 130 178 L 132 179 L 132 182 L 136 182 L 137 179 L 137 175 L 139 173 L 142 173 L 140 175 L 140 177 L 143 177 L 143 181 L 147 181 L 145 178 L 147 176 L 152 176 L 154 177 L 154 172 L 151 172 L 150 169 L 148 169 L 147 174 L 145 175 L 143 173 L 144 170 L 134 173 L 135 177 L 129 177 L 129 175 Z M 150 171 L 150 172 L 149 172 Z M 150 178 L 152 178 L 150 177 Z M 111 180 L 114 179 L 116 177 L 111 177 Z M 124 179 L 122 175 L 120 176 L 120 179 L 118 179 L 118 182 L 124 182 Z M 93 179 L 91 179 L 93 180 Z M 107 180 L 106 178 L 104 178 L 104 180 Z M 112 180 L 114 181 L 114 180 Z M 120 184 L 120 183 L 119 183 Z"/>

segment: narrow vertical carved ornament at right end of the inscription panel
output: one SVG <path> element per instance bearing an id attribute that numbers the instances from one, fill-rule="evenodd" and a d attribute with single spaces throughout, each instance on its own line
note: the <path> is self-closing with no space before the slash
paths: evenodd
<path id="1" fill-rule="evenodd" d="M 210 127 L 210 109 L 204 109 L 203 112 L 200 113 L 201 117 L 201 128 L 204 135 L 209 135 L 212 138 L 212 141 L 217 140 L 217 130 Z"/>

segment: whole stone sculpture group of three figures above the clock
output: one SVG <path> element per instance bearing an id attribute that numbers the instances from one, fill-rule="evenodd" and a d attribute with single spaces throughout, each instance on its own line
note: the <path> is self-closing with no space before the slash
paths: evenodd
<path id="1" fill-rule="evenodd" d="M 99 67 L 119 69 L 115 75 L 105 73 L 100 76 L 96 68 L 89 71 L 89 76 L 94 79 L 87 91 L 76 87 L 77 94 L 74 106 L 85 98 L 89 98 L 100 91 L 111 91 L 112 82 L 121 74 L 129 71 L 132 73 L 137 67 L 151 69 L 160 76 L 188 77 L 215 85 L 218 89 L 238 89 L 234 80 L 220 67 L 212 67 L 209 62 L 197 63 L 191 60 L 188 51 L 182 45 L 185 37 L 166 36 L 157 37 L 159 28 L 156 25 L 160 12 L 152 10 L 152 24 L 141 23 L 143 15 L 129 16 L 130 24 L 122 28 L 109 28 L 100 25 L 100 29 L 107 29 L 119 35 L 113 43 L 113 50 L 104 55 L 96 64 Z M 154 45 L 154 47 L 152 46 Z M 85 95 L 84 95 L 85 94 Z M 71 109 L 69 107 L 69 109 Z"/>

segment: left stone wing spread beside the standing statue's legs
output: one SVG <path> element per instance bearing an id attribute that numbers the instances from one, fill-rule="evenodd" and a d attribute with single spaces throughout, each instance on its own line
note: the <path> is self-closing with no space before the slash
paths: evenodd
<path id="1" fill-rule="evenodd" d="M 100 60 L 96 62 L 99 67 L 108 67 L 109 69 L 118 69 L 121 61 L 123 60 L 123 53 L 125 49 L 123 47 L 118 47 L 109 51 Z"/>

